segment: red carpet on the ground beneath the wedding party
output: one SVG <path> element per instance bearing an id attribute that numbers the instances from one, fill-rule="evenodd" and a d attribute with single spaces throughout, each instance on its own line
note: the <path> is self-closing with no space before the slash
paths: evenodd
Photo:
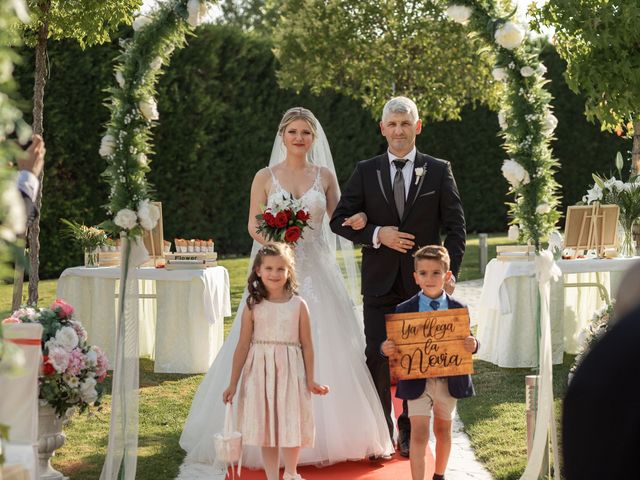
<path id="1" fill-rule="evenodd" d="M 396 412 L 402 411 L 402 402 L 394 398 Z M 427 452 L 427 475 L 433 475 L 433 456 Z M 392 459 L 382 462 L 344 462 L 325 468 L 300 467 L 298 473 L 305 480 L 411 480 L 409 459 L 396 453 Z M 264 480 L 264 472 L 242 470 L 242 480 Z"/>

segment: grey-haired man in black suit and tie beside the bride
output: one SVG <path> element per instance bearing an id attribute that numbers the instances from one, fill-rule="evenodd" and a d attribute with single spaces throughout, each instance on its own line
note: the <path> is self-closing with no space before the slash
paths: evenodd
<path id="1" fill-rule="evenodd" d="M 465 249 L 465 221 L 458 187 L 449 162 L 416 150 L 422 130 L 416 104 L 396 97 L 384 106 L 380 122 L 389 145 L 386 153 L 356 165 L 331 218 L 331 229 L 362 249 L 362 294 L 367 366 L 376 385 L 393 437 L 389 364 L 380 352 L 386 339 L 384 316 L 415 295 L 412 253 L 440 244 L 451 257 L 452 293 Z M 355 215 L 364 212 L 367 225 L 353 230 Z M 400 453 L 409 456 L 410 424 L 406 405 L 398 419 Z"/>

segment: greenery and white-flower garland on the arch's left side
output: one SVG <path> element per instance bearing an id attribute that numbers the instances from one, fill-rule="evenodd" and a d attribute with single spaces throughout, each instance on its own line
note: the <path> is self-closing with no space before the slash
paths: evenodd
<path id="1" fill-rule="evenodd" d="M 109 89 L 111 119 L 100 144 L 107 160 L 103 173 L 110 185 L 103 225 L 114 233 L 134 238 L 155 227 L 159 211 L 149 202 L 152 188 L 146 180 L 153 152 L 151 129 L 158 120 L 156 81 L 175 48 L 186 44 L 186 35 L 202 20 L 206 0 L 170 0 L 133 22 L 134 35 L 122 41 L 117 58 L 117 86 Z"/>

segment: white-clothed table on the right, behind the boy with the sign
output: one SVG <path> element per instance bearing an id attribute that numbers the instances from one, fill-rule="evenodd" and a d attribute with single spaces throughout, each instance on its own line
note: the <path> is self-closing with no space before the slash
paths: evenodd
<path id="1" fill-rule="evenodd" d="M 581 332 L 595 311 L 605 304 L 597 288 L 584 284 L 601 284 L 611 298 L 624 271 L 636 261 L 637 257 L 557 262 L 563 275 L 551 283 L 554 364 L 562 363 L 564 352 L 578 352 Z M 583 285 L 565 288 L 568 283 Z M 491 260 L 479 303 L 477 337 L 481 347 L 476 358 L 500 367 L 537 366 L 539 298 L 534 262 Z"/>

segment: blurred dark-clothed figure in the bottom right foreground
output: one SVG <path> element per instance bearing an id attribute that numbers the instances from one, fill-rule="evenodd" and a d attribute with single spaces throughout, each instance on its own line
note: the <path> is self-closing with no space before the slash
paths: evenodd
<path id="1" fill-rule="evenodd" d="M 564 478 L 638 478 L 640 307 L 611 327 L 575 372 L 563 402 Z"/>

